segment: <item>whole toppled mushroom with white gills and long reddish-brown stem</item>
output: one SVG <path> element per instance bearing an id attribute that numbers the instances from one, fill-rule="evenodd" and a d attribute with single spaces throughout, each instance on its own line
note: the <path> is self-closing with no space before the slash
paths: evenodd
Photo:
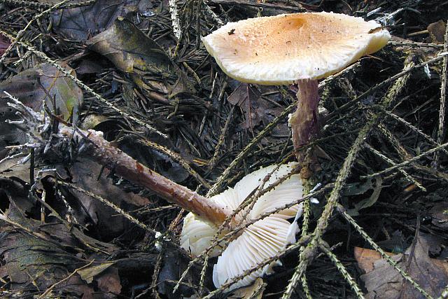
<path id="1" fill-rule="evenodd" d="M 231 228 L 235 228 L 235 225 L 244 224 L 246 221 L 255 221 L 262 214 L 269 215 L 244 228 L 241 235 L 232 240 L 228 248 L 223 251 L 214 267 L 216 286 L 221 286 L 225 281 L 243 274 L 245 270 L 260 264 L 267 258 L 275 257 L 287 244 L 295 242 L 295 234 L 298 230 L 296 219 L 292 223 L 287 220 L 294 216 L 298 218 L 302 214 L 301 204 L 295 204 L 303 194 L 300 176 L 294 173 L 297 162 L 259 169 L 241 179 L 234 188 L 228 188 L 220 195 L 206 198 L 141 165 L 130 155 L 106 141 L 102 132 L 73 129 L 64 123 L 58 123 L 55 128 L 50 125 L 53 124 L 52 118 L 43 113 L 36 113 L 19 102 L 18 99 L 5 93 L 11 100 L 8 106 L 19 111 L 23 118 L 20 121 L 10 121 L 9 123 L 26 128 L 29 144 L 33 146 L 36 153 L 43 152 L 43 148 L 48 151 L 46 155 L 53 153 L 53 147 L 48 146 L 46 139 L 51 136 L 55 148 L 70 148 L 71 151 L 76 151 L 77 157 L 90 158 L 106 168 L 113 169 L 116 175 L 151 189 L 165 200 L 179 204 L 192 212 L 188 214 L 183 223 L 181 246 L 195 255 L 199 255 L 211 245 L 211 239 L 218 231 L 218 226 L 233 214 L 233 211 L 246 200 L 246 197 L 253 191 L 260 191 L 258 190 L 260 187 L 272 186 L 269 190 L 257 193 L 260 196 L 255 197 L 253 204 L 242 209 L 237 215 L 232 215 L 231 227 L 226 225 L 225 228 L 229 231 Z M 73 140 L 78 140 L 78 142 L 74 144 Z M 76 147 L 71 148 L 71 146 Z M 291 207 L 285 208 L 286 204 Z M 114 205 L 109 207 L 123 212 Z M 279 211 L 276 211 L 277 209 Z M 139 223 L 135 219 L 134 221 Z M 141 225 L 141 223 L 139 224 Z M 141 225 L 141 227 L 149 229 L 146 225 Z M 160 236 L 160 232 L 155 232 L 155 237 Z M 156 248 L 157 246 L 156 243 Z M 214 256 L 219 255 L 221 251 L 219 248 L 216 249 L 213 252 Z M 267 265 L 240 279 L 232 284 L 230 289 L 250 284 L 256 277 L 269 273 L 272 265 L 274 264 Z"/>

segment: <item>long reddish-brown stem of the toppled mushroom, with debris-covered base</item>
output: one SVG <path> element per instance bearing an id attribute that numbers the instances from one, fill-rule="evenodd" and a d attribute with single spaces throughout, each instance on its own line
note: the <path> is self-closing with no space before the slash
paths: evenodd
<path id="1" fill-rule="evenodd" d="M 17 125 L 27 132 L 30 140 L 26 147 L 35 148 L 36 153 L 43 153 L 50 158 L 53 149 L 55 149 L 55 152 L 60 152 L 60 149 L 64 148 L 64 152 L 68 151 L 71 156 L 83 155 L 111 169 L 116 175 L 123 176 L 132 183 L 153 190 L 168 202 L 178 204 L 183 209 L 192 211 L 204 221 L 214 225 L 221 225 L 230 214 L 231 211 L 227 211 L 225 207 L 212 202 L 195 191 L 174 183 L 174 181 L 137 162 L 130 155 L 106 141 L 102 132 L 69 127 L 57 116 L 53 116 L 57 121 L 54 125 L 51 125 L 52 120 L 49 117 L 29 109 L 8 93 L 6 95 L 11 100 L 8 105 L 16 109 L 18 114 L 22 116 L 22 120 L 9 121 L 9 123 Z"/>

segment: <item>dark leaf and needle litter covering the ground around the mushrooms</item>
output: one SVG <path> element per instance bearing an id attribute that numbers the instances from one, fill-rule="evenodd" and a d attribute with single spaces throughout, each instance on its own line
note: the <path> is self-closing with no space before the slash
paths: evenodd
<path id="1" fill-rule="evenodd" d="M 1 6 L 0 29 L 18 36 L 32 20 L 19 40 L 58 60 L 69 74 L 76 74 L 85 86 L 126 114 L 118 115 L 85 86 L 75 84 L 22 43 L 0 59 L 1 90 L 36 111 L 45 100 L 48 111 L 74 125 L 94 118 L 87 127 L 102 130 L 104 137 L 123 151 L 200 194 L 206 194 L 207 187 L 198 184 L 197 176 L 213 185 L 237 161 L 221 178 L 224 185 L 232 186 L 244 174 L 290 155 L 285 111 L 294 94 L 294 88 L 235 84 L 207 56 L 200 36 L 225 22 L 298 11 L 335 11 L 387 22 L 397 38 L 380 53 L 363 58 L 323 86 L 322 102 L 328 114 L 316 141 L 321 151 L 321 171 L 313 179 L 328 186 L 335 181 L 360 127 L 372 113 L 384 109 L 378 103 L 391 88 L 389 78 L 409 65 L 404 57 L 412 57 L 415 65 L 439 57 L 448 18 L 446 4 L 440 1 L 304 4 L 187 0 L 174 2 L 178 15 L 172 14 L 172 4 L 167 1 L 70 1 L 57 9 L 50 8 L 58 1 L 40 1 L 41 6 L 19 2 L 5 1 Z M 50 12 L 34 20 L 45 9 Z M 173 32 L 172 18 L 179 19 L 180 39 Z M 0 48 L 6 50 L 14 40 L 5 34 Z M 426 155 L 403 165 L 400 172 L 377 174 L 446 141 L 442 134 L 445 125 L 440 125 L 439 118 L 443 109 L 442 70 L 446 66 L 442 59 L 427 65 L 410 71 L 404 88 L 393 99 L 393 109 L 387 111 L 388 117 L 365 140 L 369 146 L 360 151 L 339 202 L 381 248 L 400 249 L 402 253 L 393 258 L 426 292 L 437 297 L 448 284 L 440 266 L 444 263 L 440 260 L 447 256 L 447 152 L 441 151 L 437 157 Z M 0 160 L 20 150 L 6 146 L 27 141 L 15 127 L 3 123 L 19 119 L 6 106 L 6 99 L 1 95 Z M 124 115 L 154 125 L 168 134 L 169 141 L 161 141 Z M 277 119 L 281 115 L 283 118 Z M 272 130 L 264 130 L 266 126 Z M 253 138 L 257 141 L 252 144 Z M 162 144 L 179 154 L 183 162 L 169 151 L 150 150 L 139 140 Z M 171 294 L 190 258 L 169 245 L 179 235 L 181 209 L 116 176 L 113 169 L 109 172 L 78 158 L 68 148 L 59 148 L 59 154 L 41 159 L 40 153 L 25 151 L 0 162 L 0 209 L 13 219 L 0 222 L 2 292 L 42 295 L 48 291 L 47 295 L 84 298 L 94 293 L 104 298 L 145 298 L 160 293 L 179 298 L 214 290 L 209 275 L 200 281 L 202 270 L 195 265 L 182 287 Z M 59 181 L 80 189 L 66 188 Z M 309 232 L 316 227 L 329 190 L 319 196 L 321 204 L 309 211 Z M 149 228 L 164 233 L 167 245 L 159 252 L 155 246 L 159 241 L 151 233 L 97 202 L 88 192 L 114 202 Z M 344 216 L 345 220 L 350 220 L 349 216 Z M 421 219 L 421 231 L 438 237 L 437 242 L 429 242 L 422 232 L 414 238 L 416 219 Z M 421 296 L 384 260 L 370 262 L 374 270 L 366 274 L 358 271 L 360 260 L 353 260 L 353 248 L 365 247 L 366 239 L 358 233 L 359 228 L 353 230 L 353 223 L 345 220 L 332 217 L 323 238 L 330 245 L 342 243 L 333 251 L 364 293 L 379 298 Z M 281 297 L 295 272 L 297 254 L 294 251 L 283 256 L 280 271 L 235 293 L 234 298 Z M 213 262 L 209 261 L 207 274 Z M 325 256 L 314 260 L 306 272 L 307 288 L 297 284 L 297 295 L 305 297 L 309 292 L 313 298 L 323 298 L 343 292 L 354 297 L 353 284 L 346 282 L 337 266 Z"/>

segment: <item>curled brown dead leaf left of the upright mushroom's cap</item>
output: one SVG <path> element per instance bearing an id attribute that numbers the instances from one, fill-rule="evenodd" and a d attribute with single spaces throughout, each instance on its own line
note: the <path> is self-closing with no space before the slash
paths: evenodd
<path id="1" fill-rule="evenodd" d="M 111 60 L 142 90 L 165 90 L 169 97 L 195 92 L 165 50 L 129 20 L 118 18 L 109 29 L 87 41 L 87 46 Z"/>

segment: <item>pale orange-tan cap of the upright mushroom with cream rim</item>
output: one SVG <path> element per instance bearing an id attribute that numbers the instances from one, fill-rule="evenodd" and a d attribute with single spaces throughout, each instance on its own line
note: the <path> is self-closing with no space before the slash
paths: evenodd
<path id="1" fill-rule="evenodd" d="M 363 18 L 291 13 L 230 22 L 202 41 L 228 76 L 282 85 L 335 74 L 390 38 L 377 22 Z"/>

